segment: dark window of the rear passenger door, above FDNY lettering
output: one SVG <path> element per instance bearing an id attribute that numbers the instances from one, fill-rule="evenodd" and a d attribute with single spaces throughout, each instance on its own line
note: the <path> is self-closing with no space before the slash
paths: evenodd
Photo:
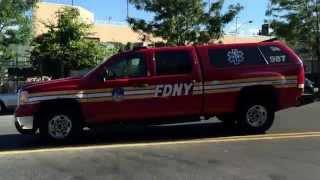
<path id="1" fill-rule="evenodd" d="M 156 52 L 157 75 L 190 74 L 192 57 L 189 51 Z"/>

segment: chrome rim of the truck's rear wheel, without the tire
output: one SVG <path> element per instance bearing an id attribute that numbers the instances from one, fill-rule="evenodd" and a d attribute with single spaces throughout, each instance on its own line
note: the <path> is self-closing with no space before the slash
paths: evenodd
<path id="1" fill-rule="evenodd" d="M 264 106 L 254 105 L 247 111 L 246 120 L 252 127 L 262 127 L 268 120 L 268 110 Z"/>

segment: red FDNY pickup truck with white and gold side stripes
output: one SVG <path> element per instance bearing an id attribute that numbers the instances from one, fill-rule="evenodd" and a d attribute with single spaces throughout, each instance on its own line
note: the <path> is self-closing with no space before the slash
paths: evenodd
<path id="1" fill-rule="evenodd" d="M 140 48 L 117 54 L 82 77 L 19 92 L 22 134 L 72 139 L 108 123 L 177 123 L 218 117 L 250 133 L 267 131 L 275 112 L 304 90 L 300 58 L 279 41 Z"/>

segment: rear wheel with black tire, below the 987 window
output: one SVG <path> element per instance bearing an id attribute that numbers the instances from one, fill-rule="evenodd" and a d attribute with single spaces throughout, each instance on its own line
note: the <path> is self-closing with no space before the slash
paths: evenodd
<path id="1" fill-rule="evenodd" d="M 271 103 L 248 101 L 239 110 L 238 124 L 241 130 L 248 133 L 264 133 L 273 124 L 275 116 Z"/>

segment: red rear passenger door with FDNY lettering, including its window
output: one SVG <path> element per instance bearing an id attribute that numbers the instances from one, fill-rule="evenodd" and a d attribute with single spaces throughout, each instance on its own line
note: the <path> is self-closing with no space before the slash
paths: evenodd
<path id="1" fill-rule="evenodd" d="M 155 97 L 160 116 L 199 115 L 202 108 L 200 66 L 192 47 L 154 51 Z"/>

